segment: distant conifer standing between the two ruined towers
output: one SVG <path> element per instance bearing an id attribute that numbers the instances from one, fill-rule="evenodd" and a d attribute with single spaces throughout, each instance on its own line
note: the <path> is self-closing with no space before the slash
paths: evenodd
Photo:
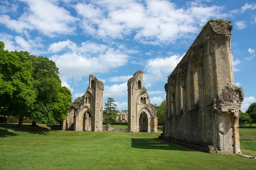
<path id="1" fill-rule="evenodd" d="M 116 121 L 116 114 L 117 114 L 117 105 L 115 104 L 115 100 L 111 97 L 107 98 L 107 103 L 104 104 L 104 111 L 103 111 L 103 121 L 106 122 L 115 122 Z"/>

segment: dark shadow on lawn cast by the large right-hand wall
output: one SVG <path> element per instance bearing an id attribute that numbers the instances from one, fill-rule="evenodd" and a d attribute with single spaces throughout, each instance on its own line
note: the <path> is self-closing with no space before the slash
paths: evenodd
<path id="1" fill-rule="evenodd" d="M 175 151 L 195 151 L 173 143 L 167 143 L 156 138 L 132 138 L 132 148 L 139 149 L 159 149 Z"/>

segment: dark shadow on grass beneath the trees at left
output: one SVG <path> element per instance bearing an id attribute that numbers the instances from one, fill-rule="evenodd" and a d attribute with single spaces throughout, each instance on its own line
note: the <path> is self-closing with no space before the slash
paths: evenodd
<path id="1" fill-rule="evenodd" d="M 17 134 L 13 132 L 28 132 L 31 134 L 39 134 L 39 135 L 48 135 L 47 128 L 43 127 L 33 127 L 31 125 L 22 125 L 22 128 L 17 127 L 15 124 L 0 124 L 0 137 L 11 137 L 16 136 Z"/>

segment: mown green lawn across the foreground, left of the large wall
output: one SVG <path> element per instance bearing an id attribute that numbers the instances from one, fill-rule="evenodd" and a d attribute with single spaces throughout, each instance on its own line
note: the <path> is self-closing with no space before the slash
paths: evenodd
<path id="1" fill-rule="evenodd" d="M 209 154 L 160 141 L 160 133 L 8 132 L 0 125 L 0 169 L 256 168 L 255 160 L 238 154 Z"/>

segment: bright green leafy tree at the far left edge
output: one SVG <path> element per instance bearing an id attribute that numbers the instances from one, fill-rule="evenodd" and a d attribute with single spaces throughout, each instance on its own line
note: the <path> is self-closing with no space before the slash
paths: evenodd
<path id="1" fill-rule="evenodd" d="M 4 43 L 0 42 L 0 112 L 19 118 L 19 126 L 35 102 L 33 82 L 29 54 L 4 50 Z"/>

